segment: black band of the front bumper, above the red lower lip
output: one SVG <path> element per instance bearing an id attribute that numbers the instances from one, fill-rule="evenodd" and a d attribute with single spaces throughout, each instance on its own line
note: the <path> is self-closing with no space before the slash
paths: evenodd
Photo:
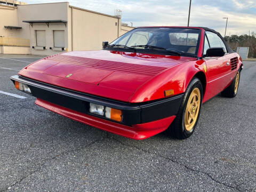
<path id="1" fill-rule="evenodd" d="M 176 115 L 178 113 L 178 109 L 183 98 L 183 94 L 179 94 L 171 98 L 165 98 L 162 100 L 155 100 L 151 102 L 128 103 L 64 89 L 62 87 L 38 82 L 33 79 L 21 77 L 18 75 L 12 76 L 11 80 L 13 82 L 18 81 L 27 84 L 31 90 L 31 95 L 36 98 L 43 99 L 45 101 L 49 101 L 56 105 L 66 107 L 75 111 L 79 111 L 84 114 L 107 119 L 108 121 L 113 120 L 90 113 L 90 102 L 106 107 L 120 109 L 123 113 L 122 122 L 113 122 L 129 126 L 134 124 L 148 123 L 151 121 L 156 121 L 158 119 Z"/>

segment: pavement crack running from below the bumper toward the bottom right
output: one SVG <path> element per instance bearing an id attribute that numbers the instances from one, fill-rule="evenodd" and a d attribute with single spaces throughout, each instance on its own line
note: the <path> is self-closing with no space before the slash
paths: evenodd
<path id="1" fill-rule="evenodd" d="M 145 153 L 157 155 L 157 156 L 159 156 L 159 157 L 161 157 L 161 158 L 166 159 L 167 161 L 171 161 L 171 162 L 176 163 L 176 164 L 178 164 L 178 165 L 180 165 L 180 166 L 183 166 L 183 167 L 185 167 L 186 169 L 188 169 L 188 170 L 190 170 L 190 171 L 193 171 L 193 172 L 196 172 L 196 173 L 202 173 L 202 174 L 206 175 L 208 178 L 210 178 L 212 181 L 217 182 L 217 183 L 219 183 L 219 184 L 221 184 L 221 185 L 224 185 L 224 186 L 226 186 L 226 187 L 228 187 L 228 188 L 235 189 L 235 190 L 237 190 L 237 191 L 241 191 L 241 190 L 239 190 L 237 187 L 233 187 L 233 186 L 228 185 L 228 184 L 226 184 L 226 183 L 224 183 L 224 182 L 218 181 L 217 179 L 213 178 L 211 174 L 209 174 L 209 173 L 207 173 L 207 172 L 195 170 L 195 169 L 193 169 L 193 168 L 191 168 L 191 167 L 189 167 L 189 166 L 187 166 L 187 165 L 185 165 L 185 164 L 182 164 L 182 163 L 178 162 L 177 160 L 171 159 L 171 158 L 169 158 L 169 157 L 165 157 L 165 156 L 163 156 L 163 155 L 157 154 L 157 153 L 155 153 L 155 152 L 152 152 L 152 151 L 149 151 L 149 150 L 146 150 L 146 149 L 141 149 L 141 148 L 139 148 L 139 147 L 137 147 L 137 146 L 127 145 L 127 144 L 123 143 L 122 141 L 119 141 L 118 139 L 115 139 L 115 138 L 110 138 L 110 139 L 113 139 L 114 141 L 119 142 L 119 143 L 121 143 L 121 144 L 124 145 L 124 146 L 133 147 L 133 148 L 136 148 L 136 149 L 138 149 L 138 150 L 141 150 L 141 151 L 143 151 L 143 152 L 145 152 Z"/>

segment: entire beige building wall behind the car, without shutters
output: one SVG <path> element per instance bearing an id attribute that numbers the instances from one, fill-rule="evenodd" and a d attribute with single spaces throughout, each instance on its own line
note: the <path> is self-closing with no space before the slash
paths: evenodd
<path id="1" fill-rule="evenodd" d="M 14 46 L 6 49 L 2 47 L 2 53 L 13 51 L 13 53 L 52 55 L 66 51 L 101 50 L 102 41 L 110 43 L 133 29 L 121 26 L 121 18 L 69 6 L 68 2 L 26 4 L 17 7 L 0 5 L 0 18 L 0 36 L 22 38 L 20 40 L 23 42 L 27 39 L 30 41 L 30 47 L 26 49 L 14 48 Z M 49 23 L 49 26 L 46 23 L 33 23 L 31 26 L 23 22 L 36 20 L 64 20 L 67 21 L 67 25 L 54 22 Z M 22 29 L 6 29 L 4 26 L 17 26 Z M 36 30 L 45 31 L 45 46 L 38 46 Z M 64 47 L 54 47 L 54 30 L 64 31 Z M 14 40 L 12 39 L 12 42 Z M 26 46 L 29 41 L 27 40 Z"/>

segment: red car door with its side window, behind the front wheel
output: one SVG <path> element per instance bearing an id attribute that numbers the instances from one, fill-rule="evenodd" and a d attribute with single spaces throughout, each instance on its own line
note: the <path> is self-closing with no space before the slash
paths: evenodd
<path id="1" fill-rule="evenodd" d="M 206 31 L 204 41 L 204 55 L 209 47 L 223 47 L 227 53 L 227 49 L 222 39 L 211 31 Z M 230 59 L 228 54 L 223 57 L 205 57 L 206 73 L 208 78 L 208 89 L 205 95 L 208 98 L 220 93 L 230 82 Z"/>

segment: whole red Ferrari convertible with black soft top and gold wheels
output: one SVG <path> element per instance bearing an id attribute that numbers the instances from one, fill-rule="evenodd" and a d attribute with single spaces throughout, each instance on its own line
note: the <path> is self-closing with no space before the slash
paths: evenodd
<path id="1" fill-rule="evenodd" d="M 203 102 L 237 94 L 242 59 L 212 29 L 140 27 L 102 44 L 46 57 L 11 80 L 38 106 L 132 139 L 166 129 L 187 138 Z"/>

